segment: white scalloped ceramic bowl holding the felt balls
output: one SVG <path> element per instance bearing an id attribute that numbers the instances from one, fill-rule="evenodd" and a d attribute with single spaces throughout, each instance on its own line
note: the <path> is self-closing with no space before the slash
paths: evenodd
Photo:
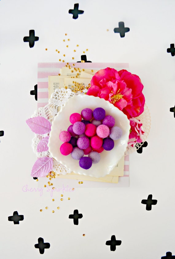
<path id="1" fill-rule="evenodd" d="M 111 115 L 115 118 L 115 126 L 122 129 L 122 137 L 114 141 L 115 144 L 112 150 L 104 150 L 100 153 L 101 159 L 99 163 L 92 164 L 91 168 L 86 170 L 80 167 L 79 161 L 73 159 L 71 154 L 64 156 L 60 153 L 60 146 L 63 142 L 60 141 L 59 134 L 62 130 L 67 130 L 71 125 L 69 117 L 72 113 L 81 114 L 81 111 L 84 108 L 94 110 L 98 107 L 102 107 L 106 111 L 106 115 Z M 130 122 L 127 119 L 127 116 L 109 101 L 89 95 L 75 95 L 68 99 L 52 122 L 48 143 L 49 152 L 53 158 L 74 173 L 93 177 L 103 177 L 111 172 L 124 155 L 128 145 L 129 132 Z"/>

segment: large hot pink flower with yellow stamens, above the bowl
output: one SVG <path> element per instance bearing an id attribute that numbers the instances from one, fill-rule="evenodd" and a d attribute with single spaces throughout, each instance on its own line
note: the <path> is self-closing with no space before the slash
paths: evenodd
<path id="1" fill-rule="evenodd" d="M 99 70 L 92 77 L 87 94 L 104 98 L 127 115 L 137 117 L 144 110 L 143 85 L 137 75 L 126 70 L 117 72 L 114 68 Z"/>

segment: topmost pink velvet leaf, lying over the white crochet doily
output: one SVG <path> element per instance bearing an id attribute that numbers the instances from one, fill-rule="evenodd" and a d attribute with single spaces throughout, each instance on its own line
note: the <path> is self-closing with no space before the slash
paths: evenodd
<path id="1" fill-rule="evenodd" d="M 51 124 L 44 117 L 38 116 L 34 118 L 29 118 L 28 120 L 26 120 L 26 123 L 29 128 L 36 134 L 46 134 L 51 131 Z"/>

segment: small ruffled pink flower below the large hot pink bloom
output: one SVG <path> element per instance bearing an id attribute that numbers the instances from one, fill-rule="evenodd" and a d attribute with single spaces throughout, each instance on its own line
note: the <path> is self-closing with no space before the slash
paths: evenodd
<path id="1" fill-rule="evenodd" d="M 134 147 L 136 143 L 143 142 L 142 134 L 144 134 L 144 131 L 142 129 L 142 123 L 140 120 L 136 118 L 130 119 L 130 134 L 129 134 L 129 141 L 128 146 Z"/>

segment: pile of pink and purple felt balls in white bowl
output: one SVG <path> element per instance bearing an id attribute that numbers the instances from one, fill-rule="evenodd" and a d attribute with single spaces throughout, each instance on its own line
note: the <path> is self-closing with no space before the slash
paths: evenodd
<path id="1" fill-rule="evenodd" d="M 85 108 L 79 113 L 70 115 L 72 123 L 68 130 L 60 132 L 60 146 L 62 155 L 71 154 L 73 159 L 79 160 L 83 169 L 89 169 L 92 163 L 100 161 L 100 154 L 103 150 L 111 150 L 114 147 L 114 140 L 122 136 L 121 128 L 115 126 L 115 118 L 106 116 L 103 108 L 95 110 Z M 88 156 L 86 156 L 88 155 Z"/>

